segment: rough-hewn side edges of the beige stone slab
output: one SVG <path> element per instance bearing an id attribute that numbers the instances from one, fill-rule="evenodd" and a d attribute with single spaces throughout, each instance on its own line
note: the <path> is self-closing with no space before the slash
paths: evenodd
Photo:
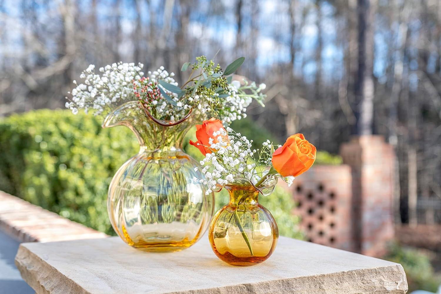
<path id="1" fill-rule="evenodd" d="M 35 261 L 38 261 L 36 263 Z M 35 265 L 38 264 L 38 267 Z M 81 293 L 92 294 L 78 283 L 68 278 L 58 269 L 42 260 L 41 257 L 33 253 L 21 244 L 15 257 L 15 265 L 20 271 L 22 278 L 28 283 L 37 294 L 39 293 Z M 52 274 L 44 276 L 47 272 L 44 269 L 51 268 Z M 34 275 L 31 273 L 34 272 Z M 54 274 L 55 272 L 55 274 Z M 392 276 L 391 276 L 392 275 Z M 358 277 L 362 276 L 362 279 Z M 316 279 L 311 279 L 315 277 Z M 389 279 L 387 279 L 389 277 Z M 392 279 L 390 279 L 392 278 Z M 336 280 L 333 284 L 340 288 L 329 289 L 324 287 L 326 280 Z M 344 283 L 344 281 L 356 281 L 357 283 Z M 374 284 L 374 289 L 372 285 Z M 274 289 L 276 288 L 276 289 Z M 287 288 L 289 292 L 287 292 Z M 298 289 L 292 292 L 292 289 Z M 278 290 L 278 291 L 277 291 Z M 308 291 L 308 292 L 305 292 Z M 314 292 L 312 292 L 314 291 Z M 175 292 L 157 292 L 168 294 L 229 294 L 229 293 L 356 293 L 356 294 L 405 294 L 407 293 L 407 279 L 401 264 L 392 264 L 377 268 L 360 268 L 351 271 L 335 272 L 330 274 L 299 276 L 288 279 L 276 279 L 272 281 L 262 281 L 258 283 L 240 283 L 224 287 L 213 287 L 195 290 L 183 290 Z"/>

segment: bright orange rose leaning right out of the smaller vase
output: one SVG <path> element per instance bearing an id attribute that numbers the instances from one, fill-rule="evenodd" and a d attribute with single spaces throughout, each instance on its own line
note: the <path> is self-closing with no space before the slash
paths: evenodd
<path id="1" fill-rule="evenodd" d="M 273 167 L 282 176 L 298 176 L 307 171 L 315 161 L 315 146 L 303 134 L 286 139 L 285 144 L 273 153 Z"/>

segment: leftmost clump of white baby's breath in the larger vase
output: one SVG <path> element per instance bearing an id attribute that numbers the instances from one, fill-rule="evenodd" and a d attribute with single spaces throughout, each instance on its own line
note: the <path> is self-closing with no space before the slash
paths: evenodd
<path id="1" fill-rule="evenodd" d="M 89 108 L 93 108 L 96 110 L 94 115 L 101 115 L 116 105 L 135 100 L 132 83 L 144 74 L 143 66 L 142 63 L 113 63 L 101 67 L 100 75 L 95 73 L 95 66 L 90 64 L 80 74 L 84 83 L 77 84 L 74 81 L 76 87 L 69 92 L 72 98 L 71 102 L 66 102 L 66 108 L 71 109 L 74 114 L 81 108 L 86 113 Z"/>

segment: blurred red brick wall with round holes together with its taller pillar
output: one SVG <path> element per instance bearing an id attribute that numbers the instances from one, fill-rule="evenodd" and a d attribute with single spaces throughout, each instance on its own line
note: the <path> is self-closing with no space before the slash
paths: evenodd
<path id="1" fill-rule="evenodd" d="M 294 213 L 311 242 L 382 256 L 394 238 L 393 149 L 380 136 L 361 136 L 340 154 L 344 164 L 316 165 L 295 179 Z"/>

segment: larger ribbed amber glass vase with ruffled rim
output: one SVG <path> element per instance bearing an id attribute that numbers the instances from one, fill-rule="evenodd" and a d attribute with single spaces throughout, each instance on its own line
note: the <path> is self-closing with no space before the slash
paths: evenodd
<path id="1" fill-rule="evenodd" d="M 213 193 L 195 178 L 199 164 L 181 150 L 194 125 L 191 113 L 179 122 L 159 121 L 136 101 L 111 112 L 103 127 L 123 125 L 138 138 L 139 152 L 116 172 L 108 190 L 113 229 L 128 245 L 147 251 L 190 247 L 213 216 Z"/>

